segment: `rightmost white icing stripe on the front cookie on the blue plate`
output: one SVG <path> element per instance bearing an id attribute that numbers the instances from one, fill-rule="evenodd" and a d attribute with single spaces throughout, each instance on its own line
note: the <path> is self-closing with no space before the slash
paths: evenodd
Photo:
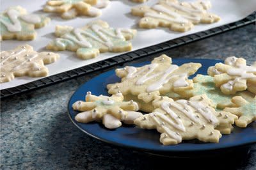
<path id="1" fill-rule="evenodd" d="M 202 114 L 204 118 L 208 120 L 210 123 L 212 123 L 212 125 L 217 125 L 219 123 L 218 119 L 216 118 L 214 113 L 211 111 L 211 109 L 208 106 L 205 106 L 204 104 L 202 104 L 202 102 L 189 101 L 189 105 L 194 107 L 196 111 L 200 112 L 200 114 Z"/>

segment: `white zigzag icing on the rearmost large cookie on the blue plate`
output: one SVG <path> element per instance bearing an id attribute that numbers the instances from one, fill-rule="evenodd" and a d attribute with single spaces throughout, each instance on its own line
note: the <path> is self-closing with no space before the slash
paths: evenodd
<path id="1" fill-rule="evenodd" d="M 143 85 L 146 81 L 150 79 L 154 79 L 159 75 L 162 75 L 160 79 L 158 79 L 156 82 L 154 82 L 153 84 L 150 84 L 147 87 L 147 92 L 152 92 L 152 91 L 156 91 L 157 89 L 160 89 L 161 87 L 163 87 L 164 84 L 170 81 L 170 79 L 177 76 L 180 76 L 180 78 L 173 83 L 174 87 L 186 87 L 189 85 L 188 82 L 186 81 L 186 79 L 188 79 L 188 75 L 186 73 L 169 76 L 179 68 L 179 66 L 177 65 L 171 65 L 169 68 L 167 68 L 163 72 L 158 72 L 158 73 L 149 75 L 154 71 L 155 68 L 157 68 L 157 66 L 159 66 L 157 63 L 152 63 L 148 66 L 145 66 L 145 68 L 142 68 L 139 72 L 137 68 L 133 66 L 126 66 L 125 70 L 127 71 L 127 79 L 131 79 L 132 77 L 139 76 L 141 75 L 141 73 L 143 73 L 143 75 L 135 83 L 136 85 Z"/>

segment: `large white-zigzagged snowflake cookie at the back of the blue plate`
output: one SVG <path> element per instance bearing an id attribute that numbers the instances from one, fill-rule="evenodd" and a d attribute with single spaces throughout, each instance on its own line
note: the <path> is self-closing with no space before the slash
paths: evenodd
<path id="1" fill-rule="evenodd" d="M 188 79 L 189 75 L 193 75 L 200 66 L 200 63 L 172 65 L 172 58 L 162 55 L 154 58 L 150 65 L 116 69 L 116 75 L 122 80 L 108 84 L 108 93 L 121 91 L 124 95 L 137 96 L 146 103 L 154 100 L 155 96 L 170 91 L 185 95 L 186 91 L 193 88 L 193 81 Z"/>

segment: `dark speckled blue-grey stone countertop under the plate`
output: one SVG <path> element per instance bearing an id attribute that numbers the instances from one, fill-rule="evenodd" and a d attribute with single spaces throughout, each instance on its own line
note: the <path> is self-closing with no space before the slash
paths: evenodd
<path id="1" fill-rule="evenodd" d="M 164 53 L 173 58 L 243 56 L 252 63 L 256 59 L 255 44 L 255 25 L 250 25 Z M 2 100 L 1 169 L 160 169 L 166 166 L 256 169 L 256 144 L 250 146 L 250 152 L 235 151 L 231 157 L 180 159 L 118 148 L 84 134 L 69 120 L 67 103 L 79 85 L 99 73 Z"/>

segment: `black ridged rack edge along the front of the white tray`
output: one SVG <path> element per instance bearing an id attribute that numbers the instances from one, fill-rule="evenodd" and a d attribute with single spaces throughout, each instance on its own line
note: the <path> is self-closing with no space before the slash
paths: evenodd
<path id="1" fill-rule="evenodd" d="M 220 27 L 215 27 L 215 28 L 209 29 L 207 31 L 195 33 L 193 35 L 183 36 L 183 37 L 177 38 L 175 40 L 170 40 L 168 42 L 159 43 L 157 45 L 146 47 L 144 49 L 134 50 L 132 52 L 128 52 L 126 54 L 115 56 L 114 58 L 109 58 L 104 61 L 99 61 L 99 62 L 93 63 L 91 65 L 82 66 L 82 67 L 76 68 L 74 70 L 70 70 L 70 71 L 63 72 L 63 73 L 58 73 L 58 74 L 52 75 L 50 77 L 45 77 L 44 79 L 40 79 L 38 81 L 33 81 L 33 82 L 29 82 L 27 84 L 22 84 L 15 88 L 3 89 L 3 90 L 1 90 L 1 98 L 10 97 L 12 95 L 16 95 L 18 93 L 23 93 L 25 91 L 30 91 L 32 89 L 49 86 L 49 85 L 55 84 L 57 82 L 66 81 L 68 79 L 72 79 L 74 77 L 78 77 L 78 76 L 84 75 L 86 73 L 95 72 L 97 70 L 102 70 L 104 68 L 108 68 L 111 66 L 124 64 L 125 62 L 132 61 L 132 60 L 138 59 L 138 58 L 142 58 L 149 54 L 162 52 L 163 50 L 172 49 L 179 45 L 184 45 L 186 43 L 195 42 L 196 40 L 202 40 L 203 38 L 207 38 L 209 36 L 224 33 L 225 31 L 230 31 L 232 29 L 236 29 L 237 27 L 242 27 L 242 26 L 246 26 L 248 24 L 253 24 L 255 22 L 255 15 L 256 15 L 256 12 L 253 12 L 251 15 L 249 15 L 245 19 L 239 20 L 237 22 L 233 22 L 231 24 L 227 24 L 227 25 L 220 26 Z"/>

